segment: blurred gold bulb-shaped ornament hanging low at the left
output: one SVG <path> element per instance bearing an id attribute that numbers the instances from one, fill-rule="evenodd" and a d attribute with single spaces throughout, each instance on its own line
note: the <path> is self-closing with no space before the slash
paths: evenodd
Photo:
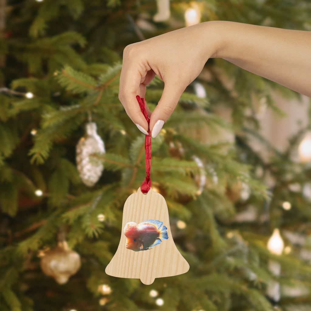
<path id="1" fill-rule="evenodd" d="M 68 248 L 66 241 L 59 242 L 44 254 L 40 266 L 44 274 L 52 276 L 58 284 L 65 284 L 81 267 L 80 255 Z"/>

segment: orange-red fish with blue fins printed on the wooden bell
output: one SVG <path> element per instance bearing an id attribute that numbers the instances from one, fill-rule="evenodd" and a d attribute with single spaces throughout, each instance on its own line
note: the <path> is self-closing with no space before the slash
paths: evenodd
<path id="1" fill-rule="evenodd" d="M 162 221 L 152 219 L 144 220 L 138 225 L 134 221 L 127 222 L 123 230 L 126 236 L 125 247 L 138 252 L 160 244 L 162 242 L 160 238 L 169 238 L 167 228 L 162 224 Z"/>

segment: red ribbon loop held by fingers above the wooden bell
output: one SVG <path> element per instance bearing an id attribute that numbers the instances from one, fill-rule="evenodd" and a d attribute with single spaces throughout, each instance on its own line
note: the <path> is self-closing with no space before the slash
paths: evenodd
<path id="1" fill-rule="evenodd" d="M 150 122 L 150 119 L 148 118 L 147 110 L 145 108 L 145 99 L 140 98 L 138 95 L 136 96 L 136 99 L 138 101 L 139 107 L 142 110 L 142 114 L 146 118 L 148 125 Z M 145 163 L 146 163 L 146 178 L 142 182 L 142 185 L 140 186 L 140 190 L 142 193 L 147 193 L 149 189 L 151 188 L 151 179 L 150 179 L 150 168 L 151 168 L 151 133 L 150 129 L 148 128 L 148 135 L 145 137 Z"/>

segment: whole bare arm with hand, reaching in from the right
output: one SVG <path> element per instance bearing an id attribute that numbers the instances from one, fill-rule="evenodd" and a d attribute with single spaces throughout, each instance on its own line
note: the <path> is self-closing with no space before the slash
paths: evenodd
<path id="1" fill-rule="evenodd" d="M 128 45 L 123 53 L 119 99 L 137 127 L 148 124 L 136 95 L 158 75 L 161 99 L 149 116 L 155 137 L 185 88 L 208 58 L 220 57 L 257 75 L 311 97 L 311 31 L 287 30 L 227 21 L 209 21 Z"/>

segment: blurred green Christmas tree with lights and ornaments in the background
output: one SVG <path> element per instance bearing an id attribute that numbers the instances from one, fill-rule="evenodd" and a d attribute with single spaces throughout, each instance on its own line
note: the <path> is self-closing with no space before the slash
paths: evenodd
<path id="1" fill-rule="evenodd" d="M 310 30 L 310 14 L 307 0 L 0 1 L 1 311 L 309 310 L 310 114 L 280 151 L 262 108 L 282 116 L 275 92 L 300 95 L 222 59 L 152 139 L 151 186 L 190 270 L 144 285 L 105 268 L 146 174 L 118 100 L 125 46 L 199 21 Z M 156 77 L 150 108 L 162 90 Z"/>

